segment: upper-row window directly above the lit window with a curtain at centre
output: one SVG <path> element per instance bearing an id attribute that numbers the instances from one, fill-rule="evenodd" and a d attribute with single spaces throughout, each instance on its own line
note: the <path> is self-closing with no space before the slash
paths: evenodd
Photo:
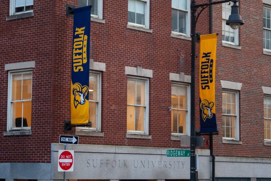
<path id="1" fill-rule="evenodd" d="M 149 28 L 150 0 L 128 0 L 128 24 Z"/>

